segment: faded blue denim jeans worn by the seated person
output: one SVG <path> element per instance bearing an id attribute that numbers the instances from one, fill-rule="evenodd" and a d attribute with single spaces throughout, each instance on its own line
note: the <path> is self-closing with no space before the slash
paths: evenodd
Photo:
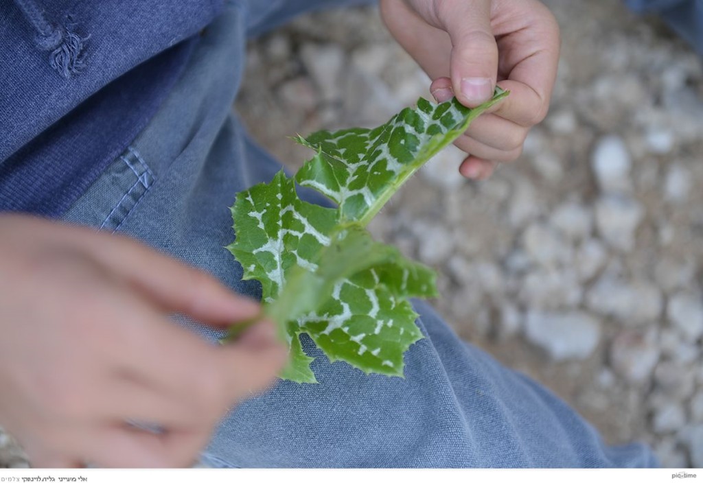
<path id="1" fill-rule="evenodd" d="M 257 283 L 241 280 L 223 248 L 233 239 L 228 207 L 236 193 L 280 169 L 231 112 L 245 15 L 228 6 L 205 30 L 155 117 L 65 220 L 136 237 L 258 297 Z M 329 364 L 306 339 L 320 383 L 280 381 L 238 405 L 202 459 L 226 467 L 656 465 L 643 445 L 606 446 L 549 390 L 463 343 L 427 305 L 415 308 L 426 338 L 407 353 L 405 378 Z"/>

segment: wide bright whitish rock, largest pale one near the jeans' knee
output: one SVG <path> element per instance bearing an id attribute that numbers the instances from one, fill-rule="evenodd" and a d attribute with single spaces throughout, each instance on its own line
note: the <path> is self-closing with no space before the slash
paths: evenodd
<path id="1" fill-rule="evenodd" d="M 525 318 L 524 333 L 555 361 L 586 359 L 600 340 L 598 320 L 585 312 L 538 312 Z"/>

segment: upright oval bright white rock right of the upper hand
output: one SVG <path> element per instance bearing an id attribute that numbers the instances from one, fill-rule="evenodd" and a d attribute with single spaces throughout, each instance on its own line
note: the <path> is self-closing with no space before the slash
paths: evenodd
<path id="1" fill-rule="evenodd" d="M 607 135 L 598 140 L 593 150 L 591 166 L 598 186 L 603 192 L 631 190 L 632 160 L 624 140 L 619 136 Z"/>

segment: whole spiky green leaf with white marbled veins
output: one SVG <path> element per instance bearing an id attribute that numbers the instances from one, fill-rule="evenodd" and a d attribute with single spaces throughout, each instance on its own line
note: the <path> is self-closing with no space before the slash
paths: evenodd
<path id="1" fill-rule="evenodd" d="M 271 183 L 237 195 L 237 237 L 228 249 L 243 266 L 243 278 L 262 283 L 266 316 L 290 345 L 280 377 L 316 382 L 303 333 L 331 362 L 403 376 L 404 352 L 422 338 L 408 298 L 436 296 L 436 274 L 374 241 L 366 224 L 409 176 L 507 94 L 496 90 L 493 100 L 473 110 L 456 100 L 432 105 L 420 99 L 414 110 L 375 129 L 299 138 L 317 154 L 295 180 L 281 171 Z M 337 208 L 302 201 L 295 181 Z"/>

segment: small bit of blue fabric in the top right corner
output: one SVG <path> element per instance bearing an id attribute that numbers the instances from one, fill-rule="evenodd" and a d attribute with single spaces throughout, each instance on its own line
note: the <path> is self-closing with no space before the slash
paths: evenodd
<path id="1" fill-rule="evenodd" d="M 703 1 L 626 0 L 626 3 L 634 11 L 660 15 L 699 55 L 703 55 Z"/>

